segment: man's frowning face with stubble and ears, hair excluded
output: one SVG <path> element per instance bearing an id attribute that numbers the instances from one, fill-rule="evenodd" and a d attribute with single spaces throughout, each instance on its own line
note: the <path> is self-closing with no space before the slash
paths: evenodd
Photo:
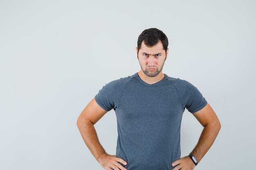
<path id="1" fill-rule="evenodd" d="M 144 44 L 144 41 L 141 43 L 141 48 L 136 47 L 136 53 L 138 53 L 139 65 L 141 70 L 149 77 L 155 77 L 158 75 L 164 66 L 165 59 L 168 55 L 168 50 L 166 51 L 162 45 L 162 42 L 159 41 L 155 46 L 148 47 Z M 150 69 L 153 68 L 153 69 Z"/>

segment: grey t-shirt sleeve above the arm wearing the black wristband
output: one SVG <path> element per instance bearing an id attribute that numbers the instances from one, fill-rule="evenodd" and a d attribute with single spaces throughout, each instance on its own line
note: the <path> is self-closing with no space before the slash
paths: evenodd
<path id="1" fill-rule="evenodd" d="M 195 87 L 190 82 L 186 82 L 186 84 L 187 96 L 185 96 L 185 107 L 190 113 L 195 113 L 204 108 L 204 106 L 207 104 L 207 101 L 197 87 Z"/>

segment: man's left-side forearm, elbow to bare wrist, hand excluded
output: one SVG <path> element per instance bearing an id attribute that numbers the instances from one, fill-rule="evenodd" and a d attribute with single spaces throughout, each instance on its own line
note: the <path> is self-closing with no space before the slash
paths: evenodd
<path id="1" fill-rule="evenodd" d="M 77 121 L 77 126 L 83 137 L 83 141 L 89 148 L 92 155 L 99 162 L 99 157 L 106 154 L 105 149 L 99 143 L 99 138 L 91 121 Z"/>

